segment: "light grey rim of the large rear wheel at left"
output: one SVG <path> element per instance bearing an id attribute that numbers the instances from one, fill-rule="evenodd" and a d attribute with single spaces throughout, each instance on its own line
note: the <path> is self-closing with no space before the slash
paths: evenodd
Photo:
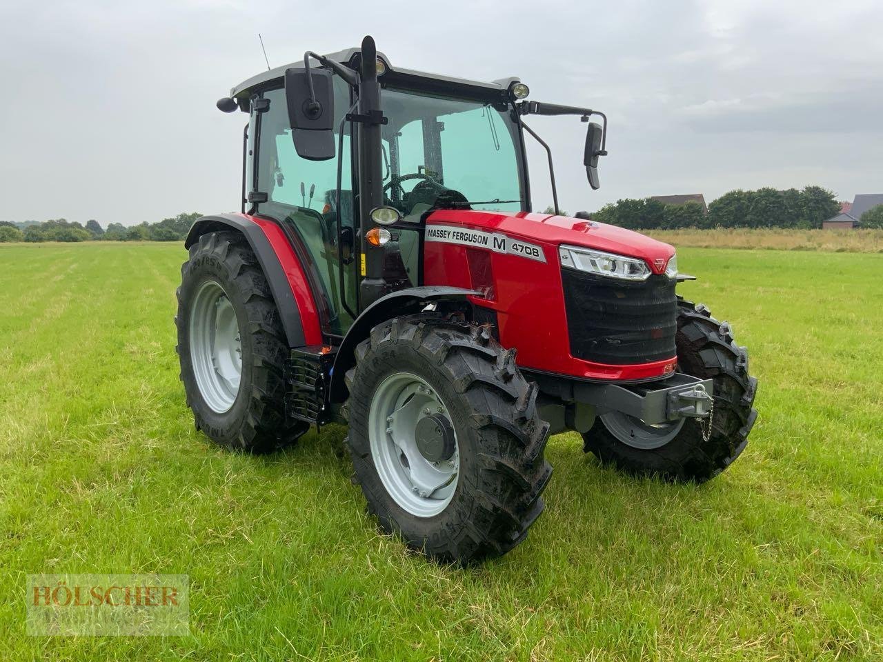
<path id="1" fill-rule="evenodd" d="M 193 298 L 190 356 L 202 399 L 219 414 L 230 410 L 242 379 L 242 344 L 236 311 L 215 281 L 202 283 Z"/>

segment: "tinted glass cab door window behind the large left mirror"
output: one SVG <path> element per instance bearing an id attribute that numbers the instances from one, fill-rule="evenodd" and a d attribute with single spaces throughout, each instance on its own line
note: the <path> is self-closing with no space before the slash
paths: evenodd
<path id="1" fill-rule="evenodd" d="M 350 107 L 349 87 L 341 79 L 335 85 L 335 153 L 339 146 L 340 120 Z M 291 127 L 283 89 L 263 93 L 269 109 L 260 115 L 258 145 L 258 191 L 268 201 L 258 211 L 283 222 L 309 252 L 306 265 L 312 275 L 313 290 L 324 310 L 322 325 L 331 334 L 343 334 L 352 322 L 341 303 L 346 297 L 355 309 L 354 269 L 344 270 L 340 282 L 337 242 L 337 165 L 341 162 L 340 221 L 353 224 L 350 124 L 344 124 L 343 151 L 328 161 L 308 161 L 298 156 L 291 139 Z M 343 284 L 343 288 L 342 288 Z M 324 305 L 322 305 L 324 303 Z"/>

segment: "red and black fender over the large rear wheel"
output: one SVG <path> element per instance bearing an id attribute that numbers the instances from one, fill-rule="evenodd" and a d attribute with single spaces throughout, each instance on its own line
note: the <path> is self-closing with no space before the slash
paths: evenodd
<path id="1" fill-rule="evenodd" d="M 245 214 L 214 214 L 202 216 L 193 223 L 185 239 L 189 249 L 199 238 L 218 230 L 232 229 L 242 233 L 252 247 L 260 268 L 267 276 L 270 293 L 285 329 L 289 347 L 321 344 L 321 330 L 312 294 L 306 287 L 306 276 L 294 251 L 275 223 Z M 273 232 L 273 230 L 277 232 Z M 282 254 L 280 252 L 290 254 Z M 283 260 L 286 267 L 283 267 Z M 299 278 L 298 278 L 299 274 Z M 299 290 L 299 291 L 298 291 Z M 306 298 L 305 298 L 306 297 Z M 298 299 L 302 299 L 298 301 Z M 301 312 L 305 314 L 302 316 Z M 311 317 L 312 315 L 312 317 Z M 306 318 L 306 319 L 305 319 Z"/>

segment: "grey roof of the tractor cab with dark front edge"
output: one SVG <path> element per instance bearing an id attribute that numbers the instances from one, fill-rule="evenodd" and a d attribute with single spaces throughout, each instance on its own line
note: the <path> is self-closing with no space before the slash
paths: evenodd
<path id="1" fill-rule="evenodd" d="M 355 68 L 353 60 L 360 52 L 360 49 L 344 49 L 339 50 L 336 53 L 328 53 L 325 56 L 332 60 L 336 60 L 336 62 L 339 62 L 340 64 L 346 64 L 351 68 Z M 465 94 L 467 96 L 478 96 L 494 101 L 501 99 L 508 100 L 509 86 L 513 82 L 520 80 L 516 77 L 509 77 L 487 83 L 479 80 L 458 79 L 452 76 L 442 76 L 442 74 L 438 73 L 412 71 L 410 69 L 393 67 L 392 63 L 389 62 L 389 57 L 385 56 L 380 51 L 378 51 L 377 56 L 387 66 L 386 73 L 380 77 L 381 85 L 417 87 L 434 94 Z M 311 67 L 312 66 L 313 64 L 311 64 Z M 320 64 L 317 62 L 315 66 L 319 67 Z M 244 103 L 247 102 L 248 97 L 253 94 L 253 91 L 271 84 L 281 84 L 285 78 L 286 69 L 303 68 L 304 62 L 301 60 L 299 62 L 292 62 L 291 64 L 283 64 L 283 66 L 275 67 L 275 69 L 270 69 L 269 71 L 261 71 L 259 74 L 252 76 L 250 79 L 245 79 L 239 83 L 238 86 L 233 87 L 230 90 L 230 97 L 236 99 L 241 108 Z"/>

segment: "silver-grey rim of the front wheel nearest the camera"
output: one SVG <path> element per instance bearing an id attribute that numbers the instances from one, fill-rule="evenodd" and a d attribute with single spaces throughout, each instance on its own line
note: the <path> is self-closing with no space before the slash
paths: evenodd
<path id="1" fill-rule="evenodd" d="M 368 414 L 371 455 L 381 482 L 399 506 L 419 517 L 441 513 L 457 490 L 457 434 L 447 460 L 432 462 L 418 447 L 419 420 L 436 414 L 453 429 L 448 408 L 434 388 L 410 372 L 396 372 L 381 381 Z"/>

